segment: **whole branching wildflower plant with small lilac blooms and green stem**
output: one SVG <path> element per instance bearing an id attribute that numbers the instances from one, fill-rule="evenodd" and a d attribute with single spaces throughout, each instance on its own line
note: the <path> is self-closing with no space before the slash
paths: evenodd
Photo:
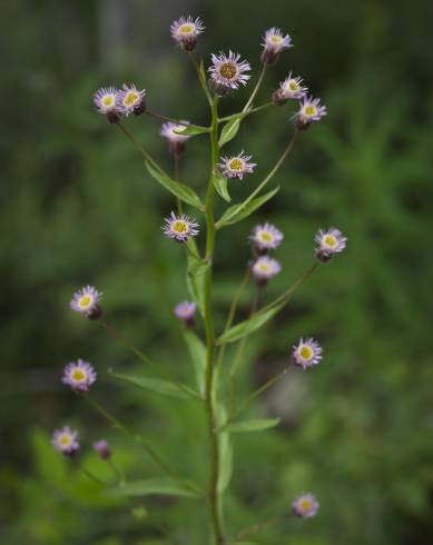
<path id="1" fill-rule="evenodd" d="M 267 192 L 264 190 L 274 180 L 281 170 L 286 157 L 292 151 L 295 141 L 302 131 L 314 122 L 321 121 L 326 116 L 326 107 L 321 105 L 319 99 L 307 96 L 307 88 L 303 86 L 301 77 L 292 76 L 287 71 L 286 79 L 279 85 L 267 102 L 255 107 L 255 100 L 262 87 L 264 77 L 279 57 L 288 54 L 287 50 L 293 47 L 289 34 L 284 33 L 278 28 L 272 28 L 264 32 L 262 42 L 260 62 L 262 70 L 253 87 L 249 98 L 244 108 L 230 116 L 219 115 L 219 103 L 222 100 L 229 101 L 233 92 L 245 92 L 244 87 L 252 79 L 250 63 L 242 59 L 240 53 L 229 51 L 213 53 L 208 69 L 205 62 L 196 53 L 197 46 L 201 40 L 205 26 L 199 18 L 180 17 L 169 29 L 173 39 L 180 48 L 180 54 L 189 57 L 198 82 L 203 89 L 204 98 L 209 107 L 209 125 L 200 126 L 190 121 L 173 119 L 167 116 L 156 113 L 149 109 L 152 97 L 147 96 L 146 91 L 140 90 L 136 83 L 122 85 L 119 89 L 110 86 L 98 90 L 94 96 L 97 111 L 104 115 L 131 141 L 136 150 L 144 157 L 147 171 L 165 190 L 169 191 L 174 198 L 174 208 L 170 215 L 163 220 L 161 236 L 180 242 L 185 250 L 186 281 L 185 288 L 189 291 L 188 300 L 181 303 L 174 301 L 171 311 L 178 318 L 178 325 L 183 329 L 186 347 L 190 353 L 195 364 L 197 386 L 180 383 L 175 379 L 164 365 L 156 364 L 141 350 L 124 338 L 108 321 L 102 318 L 101 293 L 94 286 L 86 286 L 78 290 L 70 303 L 70 307 L 85 318 L 94 320 L 95 324 L 104 328 L 115 340 L 120 340 L 135 357 L 146 363 L 158 375 L 158 378 L 148 380 L 146 377 L 132 377 L 129 375 L 117 375 L 115 377 L 138 384 L 145 388 L 154 389 L 159 394 L 173 397 L 190 399 L 199 403 L 206 417 L 206 428 L 208 436 L 208 457 L 205 463 L 208 465 L 208 479 L 205 483 L 195 482 L 194 477 L 184 476 L 175 468 L 175 463 L 164 459 L 151 445 L 141 436 L 137 436 L 121 423 L 108 408 L 104 407 L 96 397 L 94 390 L 97 389 L 97 373 L 92 365 L 79 359 L 71 363 L 63 369 L 62 380 L 72 390 L 80 394 L 80 397 L 88 399 L 91 405 L 131 442 L 138 443 L 139 447 L 152 459 L 159 469 L 166 475 L 166 480 L 158 487 L 155 478 L 151 480 L 151 493 L 166 494 L 169 488 L 170 494 L 179 497 L 201 498 L 207 507 L 209 515 L 209 542 L 215 545 L 228 545 L 240 543 L 244 537 L 254 534 L 260 528 L 260 524 L 255 524 L 253 528 L 234 528 L 229 521 L 229 514 L 225 508 L 225 494 L 230 484 L 230 478 L 236 469 L 234 464 L 232 435 L 239 432 L 259 432 L 274 427 L 278 424 L 278 418 L 246 419 L 243 416 L 250 403 L 270 388 L 279 380 L 292 366 L 302 367 L 304 371 L 312 373 L 312 369 L 322 363 L 322 346 L 313 337 L 298 339 L 287 339 L 287 356 L 284 369 L 267 383 L 253 392 L 244 399 L 239 399 L 237 383 L 239 371 L 243 366 L 243 348 L 248 336 L 258 331 L 288 304 L 294 293 L 323 264 L 346 247 L 346 238 L 343 234 L 332 227 L 329 229 L 318 229 L 315 237 L 312 234 L 311 240 L 305 244 L 311 246 L 312 264 L 306 271 L 301 275 L 298 280 L 276 298 L 269 299 L 267 296 L 267 285 L 282 271 L 279 261 L 270 255 L 274 251 L 282 251 L 284 248 L 284 234 L 274 225 L 265 222 L 257 225 L 248 236 L 246 245 L 250 248 L 250 259 L 245 262 L 244 277 L 239 288 L 234 294 L 232 305 L 228 309 L 227 319 L 223 330 L 216 330 L 214 323 L 214 254 L 218 235 L 243 221 L 256 210 L 269 201 L 278 191 L 274 187 Z M 257 40 L 257 49 L 260 44 Z M 248 190 L 248 196 L 238 204 L 229 205 L 230 187 L 235 179 L 243 179 L 244 175 L 252 175 L 259 171 L 260 166 L 252 162 L 252 157 L 244 151 L 236 156 L 222 155 L 223 148 L 237 136 L 240 123 L 267 108 L 283 107 L 284 105 L 296 105 L 292 111 L 293 132 L 286 142 L 281 156 L 276 159 L 274 167 L 266 174 L 262 181 L 253 190 Z M 287 106 L 289 108 L 289 106 Z M 282 109 L 279 111 L 283 111 Z M 173 156 L 175 165 L 175 176 L 171 177 L 167 170 L 159 165 L 139 143 L 130 132 L 127 121 L 130 115 L 149 116 L 160 120 L 163 123 L 160 135 L 167 139 L 168 151 Z M 291 115 L 282 115 L 284 123 L 289 126 Z M 191 187 L 178 180 L 178 161 L 180 157 L 187 156 L 186 142 L 190 138 L 206 138 L 209 142 L 209 170 L 207 182 L 203 194 L 196 192 Z M 239 148 L 238 148 L 239 149 Z M 253 150 L 254 151 L 254 150 Z M 243 187 L 248 188 L 253 182 L 250 176 L 245 176 Z M 223 215 L 215 217 L 215 201 L 222 199 L 227 202 Z M 164 222 L 163 222 L 164 221 Z M 163 239 L 163 237 L 161 237 Z M 314 248 L 314 242 L 316 247 Z M 252 301 L 249 316 L 244 320 L 236 319 L 238 304 L 250 284 L 254 288 L 254 299 Z M 107 306 L 109 306 L 109 294 Z M 304 340 L 305 339 L 305 340 Z M 234 358 L 227 357 L 227 346 L 237 345 L 238 349 Z M 90 388 L 91 386 L 91 388 Z M 91 389 L 91 394 L 90 394 Z M 185 434 L 187 434 L 187 426 Z M 95 438 L 94 438 L 95 439 Z M 52 439 L 53 447 L 66 456 L 78 455 L 78 450 L 83 448 L 78 443 L 78 432 L 63 427 L 57 430 Z M 117 477 L 112 483 L 105 484 L 119 494 L 128 496 L 137 493 L 137 484 L 125 477 L 121 468 L 112 464 L 115 450 L 108 446 L 106 439 L 99 439 L 92 446 L 95 453 L 104 460 L 108 460 Z M 86 473 L 98 480 L 89 472 Z M 151 477 L 151 476 L 148 476 Z M 168 486 L 167 486 L 167 480 Z M 146 485 L 140 480 L 140 486 Z M 147 490 L 149 493 L 149 490 Z M 287 490 L 287 504 L 283 515 L 294 514 L 297 517 L 309 518 L 318 511 L 318 502 L 312 494 L 298 495 L 299 490 Z M 292 503 L 291 498 L 296 498 Z M 267 525 L 268 523 L 264 523 Z"/>

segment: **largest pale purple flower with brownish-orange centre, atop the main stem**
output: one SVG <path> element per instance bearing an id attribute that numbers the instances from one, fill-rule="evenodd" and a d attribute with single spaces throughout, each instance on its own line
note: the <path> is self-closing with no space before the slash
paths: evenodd
<path id="1" fill-rule="evenodd" d="M 229 51 L 226 56 L 223 51 L 219 56 L 213 54 L 213 66 L 208 69 L 210 72 L 209 88 L 216 95 L 227 95 L 227 92 L 238 89 L 239 85 L 246 86 L 250 76 L 248 72 L 252 68 L 249 62 L 242 60 L 239 53 Z"/>

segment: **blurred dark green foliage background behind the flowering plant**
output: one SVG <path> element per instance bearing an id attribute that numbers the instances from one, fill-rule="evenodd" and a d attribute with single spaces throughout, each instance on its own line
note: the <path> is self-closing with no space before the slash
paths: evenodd
<path id="1" fill-rule="evenodd" d="M 158 475 L 59 380 L 65 363 L 92 361 L 95 395 L 139 429 L 179 470 L 205 479 L 203 415 L 186 403 L 116 384 L 107 369 L 144 371 L 94 324 L 72 316 L 85 284 L 105 293 L 107 320 L 185 380 L 191 366 L 173 307 L 187 297 L 181 248 L 161 237 L 171 198 L 150 179 L 116 127 L 98 116 L 92 92 L 135 81 L 151 108 L 207 122 L 207 109 L 169 24 L 199 14 L 206 63 L 219 49 L 259 69 L 263 31 L 291 32 L 295 48 L 269 71 L 257 103 L 289 70 L 305 78 L 329 115 L 297 142 L 275 182 L 278 198 L 218 237 L 215 307 L 223 326 L 259 220 L 285 234 L 277 295 L 309 266 L 318 227 L 338 226 L 347 251 L 323 267 L 266 331 L 248 344 L 243 388 L 287 363 L 292 344 L 314 335 L 323 365 L 292 373 L 252 416 L 283 416 L 275 430 L 234 438 L 228 528 L 289 511 L 311 490 L 322 508 L 291 518 L 256 544 L 433 542 L 432 3 L 426 0 L 16 0 L 3 2 L 1 149 L 0 541 L 8 545 L 207 543 L 200 503 L 124 501 L 100 493 L 52 452 L 53 428 L 76 426 L 85 464 L 101 478 L 92 440 L 108 437 L 128 476 Z M 249 89 L 223 101 L 239 108 Z M 258 168 L 233 182 L 240 200 L 272 167 L 292 130 L 292 109 L 249 118 L 227 151 L 245 148 Z M 159 125 L 130 130 L 170 167 Z M 199 189 L 206 141 L 194 138 L 181 179 Z M 224 204 L 220 202 L 222 210 Z M 248 297 L 242 304 L 245 314 Z M 146 370 L 148 373 L 148 370 Z M 169 537 L 167 536 L 169 535 Z"/>

